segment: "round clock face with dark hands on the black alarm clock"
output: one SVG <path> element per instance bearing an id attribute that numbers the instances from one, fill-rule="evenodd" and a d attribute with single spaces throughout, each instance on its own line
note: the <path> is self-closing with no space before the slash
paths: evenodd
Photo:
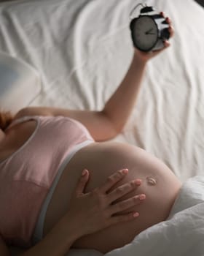
<path id="1" fill-rule="evenodd" d="M 140 16 L 132 26 L 133 42 L 140 50 L 151 50 L 158 39 L 155 21 L 149 16 Z"/>

